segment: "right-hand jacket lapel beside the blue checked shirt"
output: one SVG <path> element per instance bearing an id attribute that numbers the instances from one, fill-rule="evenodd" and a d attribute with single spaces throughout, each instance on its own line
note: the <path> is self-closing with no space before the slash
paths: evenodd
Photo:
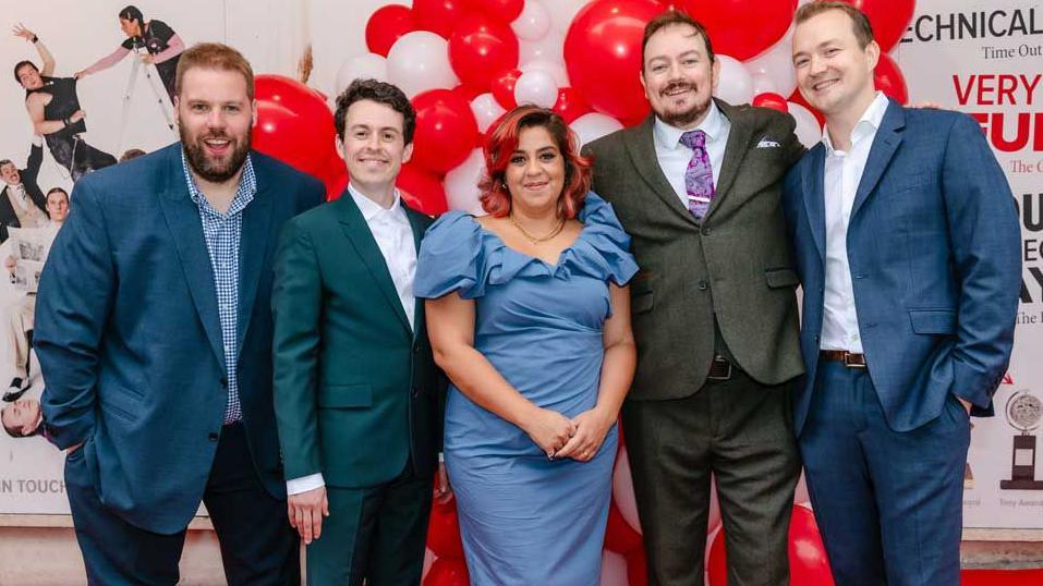
<path id="1" fill-rule="evenodd" d="M 239 243 L 239 327 L 235 347 L 240 354 L 243 352 L 243 339 L 250 328 L 250 318 L 253 315 L 254 301 L 257 298 L 257 286 L 264 272 L 265 258 L 269 253 L 271 198 L 275 197 L 270 190 L 268 168 L 259 157 L 253 157 L 252 162 L 257 175 L 257 193 L 243 209 L 243 232 Z"/>

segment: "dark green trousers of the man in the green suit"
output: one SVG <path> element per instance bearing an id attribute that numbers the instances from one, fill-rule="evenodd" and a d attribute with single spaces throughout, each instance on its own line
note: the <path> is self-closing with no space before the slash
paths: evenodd
<path id="1" fill-rule="evenodd" d="M 402 475 L 376 487 L 326 487 L 329 516 L 307 546 L 308 584 L 420 584 L 433 479 L 412 471 L 407 463 Z"/>

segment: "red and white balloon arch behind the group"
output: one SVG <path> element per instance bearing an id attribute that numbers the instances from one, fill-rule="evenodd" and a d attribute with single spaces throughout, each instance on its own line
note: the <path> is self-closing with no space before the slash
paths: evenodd
<path id="1" fill-rule="evenodd" d="M 484 134 L 508 109 L 531 102 L 553 108 L 582 143 L 648 113 L 638 71 L 645 23 L 669 7 L 702 22 L 721 61 L 716 95 L 789 112 L 805 145 L 822 137 L 821 117 L 800 97 L 790 59 L 792 17 L 806 0 L 414 0 L 371 15 L 365 54 L 347 59 L 337 91 L 357 77 L 401 87 L 416 109 L 413 159 L 398 184 L 413 207 L 481 212 L 477 182 Z M 913 14 L 914 0 L 846 0 L 868 15 L 884 53 L 876 86 L 900 102 L 906 83 L 886 53 Z M 333 147 L 327 98 L 279 75 L 256 77 L 255 147 L 311 173 L 340 196 L 348 183 Z M 725 586 L 727 567 L 716 497 L 710 512 L 707 578 Z M 832 585 L 828 561 L 803 479 L 797 490 L 789 556 L 793 584 Z M 975 574 L 977 575 L 977 574 Z M 965 574 L 965 578 L 974 576 Z M 981 578 L 997 579 L 990 572 Z M 454 504 L 435 504 L 428 529 L 425 586 L 466 585 L 468 570 Z M 602 585 L 645 584 L 630 466 L 621 447 L 613 478 Z M 1012 584 L 1012 583 L 1011 583 Z"/>

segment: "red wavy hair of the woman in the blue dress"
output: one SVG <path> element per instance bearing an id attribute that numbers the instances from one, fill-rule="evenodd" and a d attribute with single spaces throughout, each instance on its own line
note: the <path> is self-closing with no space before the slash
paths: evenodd
<path id="1" fill-rule="evenodd" d="M 537 126 L 550 133 L 565 159 L 565 184 L 558 197 L 558 215 L 572 219 L 583 208 L 586 192 L 591 191 L 591 160 L 580 156 L 575 133 L 551 110 L 538 106 L 519 106 L 496 122 L 485 144 L 485 176 L 478 183 L 478 188 L 482 191 L 482 209 L 489 216 L 502 218 L 510 213 L 511 195 L 504 179 L 507 166 L 518 148 L 521 131 Z"/>

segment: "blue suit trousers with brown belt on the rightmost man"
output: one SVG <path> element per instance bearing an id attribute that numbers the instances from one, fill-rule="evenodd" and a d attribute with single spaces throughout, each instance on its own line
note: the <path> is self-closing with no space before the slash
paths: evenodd
<path id="1" fill-rule="evenodd" d="M 951 395 L 937 418 L 894 431 L 869 373 L 830 361 L 814 393 L 800 450 L 837 586 L 958 585 L 963 406 Z"/>

